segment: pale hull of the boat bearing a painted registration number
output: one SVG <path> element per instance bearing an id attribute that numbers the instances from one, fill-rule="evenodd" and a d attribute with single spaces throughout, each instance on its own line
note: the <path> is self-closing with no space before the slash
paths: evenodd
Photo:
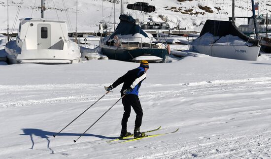
<path id="1" fill-rule="evenodd" d="M 259 46 L 189 45 L 190 50 L 201 54 L 227 59 L 257 61 Z"/>

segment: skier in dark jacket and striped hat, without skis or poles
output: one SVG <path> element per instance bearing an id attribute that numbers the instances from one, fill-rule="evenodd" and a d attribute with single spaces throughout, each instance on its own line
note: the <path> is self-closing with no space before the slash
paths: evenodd
<path id="1" fill-rule="evenodd" d="M 132 135 L 127 131 L 127 122 L 131 113 L 131 106 L 133 107 L 136 118 L 135 118 L 135 129 L 134 138 L 139 138 L 145 136 L 145 133 L 140 132 L 140 126 L 142 123 L 143 111 L 138 98 L 138 90 L 142 81 L 146 78 L 146 71 L 149 69 L 149 63 L 146 60 L 140 61 L 139 67 L 129 70 L 126 74 L 118 78 L 112 85 L 104 87 L 106 91 L 110 91 L 116 88 L 118 85 L 123 83 L 121 89 L 122 104 L 124 108 L 124 113 L 121 121 L 121 133 L 120 137 L 125 137 Z"/>

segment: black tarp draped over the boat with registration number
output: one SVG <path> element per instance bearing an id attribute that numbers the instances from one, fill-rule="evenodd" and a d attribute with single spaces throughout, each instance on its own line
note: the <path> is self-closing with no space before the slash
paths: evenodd
<path id="1" fill-rule="evenodd" d="M 226 36 L 226 35 L 233 35 L 238 36 L 244 41 L 247 41 L 249 43 L 252 43 L 252 46 L 257 46 L 259 43 L 259 40 L 250 38 L 243 34 L 242 32 L 239 32 L 237 27 L 229 21 L 218 21 L 218 20 L 207 20 L 203 26 L 203 30 L 200 34 L 200 37 L 203 36 L 205 33 L 211 33 L 214 36 Z"/>

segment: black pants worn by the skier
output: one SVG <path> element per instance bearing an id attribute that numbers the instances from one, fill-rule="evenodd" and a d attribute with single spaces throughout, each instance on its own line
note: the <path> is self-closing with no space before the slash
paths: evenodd
<path id="1" fill-rule="evenodd" d="M 130 117 L 131 106 L 133 107 L 136 114 L 135 128 L 139 128 L 142 123 L 143 111 L 138 96 L 133 94 L 125 95 L 122 98 L 122 104 L 124 108 L 124 113 L 121 121 L 122 129 L 127 129 L 127 122 L 128 118 Z"/>

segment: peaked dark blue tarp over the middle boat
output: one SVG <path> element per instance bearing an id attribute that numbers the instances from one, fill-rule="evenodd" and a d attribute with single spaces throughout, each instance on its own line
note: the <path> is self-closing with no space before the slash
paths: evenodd
<path id="1" fill-rule="evenodd" d="M 144 32 L 139 25 L 135 24 L 135 19 L 131 15 L 121 14 L 120 23 L 116 28 L 116 31 L 113 32 L 109 39 L 113 39 L 114 35 L 135 35 L 136 33 L 142 34 L 144 37 L 148 37 L 147 33 Z"/>

